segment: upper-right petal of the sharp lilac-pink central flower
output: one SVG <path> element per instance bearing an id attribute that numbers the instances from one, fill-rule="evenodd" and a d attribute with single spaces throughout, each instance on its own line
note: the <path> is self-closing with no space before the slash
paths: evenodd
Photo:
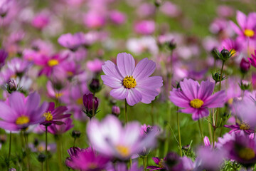
<path id="1" fill-rule="evenodd" d="M 134 72 L 132 73 L 132 76 L 134 76 L 136 81 L 140 81 L 144 78 L 148 78 L 149 76 L 151 76 L 151 74 L 154 73 L 155 69 L 156 63 L 149 60 L 148 58 L 144 58 L 142 59 L 142 61 L 139 61 L 134 69 Z"/>

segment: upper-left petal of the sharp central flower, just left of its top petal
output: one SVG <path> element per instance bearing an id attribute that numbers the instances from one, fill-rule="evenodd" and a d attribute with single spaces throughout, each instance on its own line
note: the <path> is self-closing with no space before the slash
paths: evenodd
<path id="1" fill-rule="evenodd" d="M 119 79 L 120 81 L 122 81 L 122 79 L 124 78 L 121 76 L 121 74 L 118 71 L 117 66 L 114 65 L 114 63 L 112 63 L 112 61 L 106 61 L 105 64 L 102 66 L 102 71 L 107 76 L 115 77 L 115 78 Z"/>

